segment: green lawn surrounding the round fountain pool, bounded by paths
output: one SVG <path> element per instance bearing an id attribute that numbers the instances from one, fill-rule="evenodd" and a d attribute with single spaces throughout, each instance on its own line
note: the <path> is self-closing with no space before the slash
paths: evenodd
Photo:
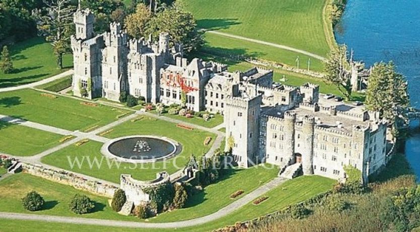
<path id="1" fill-rule="evenodd" d="M 194 154 L 197 157 L 201 156 L 203 153 L 208 151 L 215 139 L 215 135 L 212 133 L 196 129 L 188 131 L 177 128 L 176 124 L 148 118 L 144 118 L 136 122 L 129 121 L 123 123 L 113 128 L 112 132 L 104 136 L 109 138 L 118 138 L 128 135 L 165 136 L 179 142 L 182 145 L 182 152 L 174 158 L 166 161 L 137 165 L 131 163 L 121 163 L 118 168 L 117 164 L 114 162 L 110 163 L 111 165 L 108 165 L 107 160 L 100 152 L 103 145 L 102 143 L 90 141 L 80 147 L 72 145 L 61 149 L 43 157 L 42 162 L 114 183 L 120 182 L 119 178 L 121 173 L 131 174 L 133 178 L 139 180 L 152 180 L 156 178 L 156 173 L 159 171 L 166 170 L 169 173 L 174 173 L 175 171 L 183 168 L 189 160 L 191 154 Z M 203 141 L 207 136 L 210 136 L 213 139 L 210 144 L 204 146 Z M 78 158 L 80 161 L 83 159 L 85 160 L 81 168 L 76 166 L 72 169 L 67 157 L 71 160 L 74 160 L 75 158 Z M 87 157 L 89 157 L 89 160 L 102 160 L 103 163 L 100 167 L 98 167 L 98 165 L 94 165 L 90 168 L 90 165 L 87 162 Z"/>

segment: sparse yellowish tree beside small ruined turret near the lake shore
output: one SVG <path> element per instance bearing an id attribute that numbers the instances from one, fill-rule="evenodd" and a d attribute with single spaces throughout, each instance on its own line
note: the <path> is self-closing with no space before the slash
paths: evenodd
<path id="1" fill-rule="evenodd" d="M 325 62 L 324 81 L 335 85 L 346 100 L 352 96 L 352 71 L 348 63 L 346 45 L 332 49 Z"/>

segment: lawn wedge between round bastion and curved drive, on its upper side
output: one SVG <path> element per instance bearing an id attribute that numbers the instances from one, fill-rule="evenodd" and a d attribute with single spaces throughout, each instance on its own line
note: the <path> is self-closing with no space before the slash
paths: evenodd
<path id="1" fill-rule="evenodd" d="M 214 213 L 252 192 L 252 190 L 270 181 L 278 174 L 278 168 L 273 165 L 259 165 L 232 171 L 232 175 L 225 180 L 209 185 L 202 193 L 192 196 L 184 209 L 163 213 L 151 218 L 150 221 L 181 221 Z M 238 190 L 243 190 L 244 193 L 235 199 L 231 199 L 230 195 Z"/>

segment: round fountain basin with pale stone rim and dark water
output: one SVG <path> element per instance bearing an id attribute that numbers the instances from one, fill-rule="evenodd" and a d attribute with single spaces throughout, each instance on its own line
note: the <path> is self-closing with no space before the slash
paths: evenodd
<path id="1" fill-rule="evenodd" d="M 180 144 L 166 137 L 138 135 L 110 140 L 101 152 L 124 162 L 146 163 L 171 158 L 181 150 Z"/>

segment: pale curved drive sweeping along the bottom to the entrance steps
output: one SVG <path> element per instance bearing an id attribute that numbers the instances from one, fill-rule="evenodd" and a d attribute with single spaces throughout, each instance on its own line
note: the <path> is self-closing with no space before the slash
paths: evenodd
<path id="1" fill-rule="evenodd" d="M 148 222 L 131 222 L 131 221 L 118 221 L 118 220 L 104 220 L 104 219 L 89 219 L 89 218 L 77 218 L 77 217 L 61 217 L 61 216 L 49 216 L 49 215 L 36 215 L 36 214 L 23 214 L 23 213 L 7 213 L 0 212 L 0 218 L 5 219 L 19 219 L 19 220 L 36 220 L 36 221 L 48 221 L 48 222 L 61 222 L 61 223 L 73 223 L 73 224 L 88 224 L 88 225 L 104 225 L 104 226 L 120 226 L 120 227 L 133 227 L 133 228 L 181 228 L 189 227 L 194 225 L 211 222 L 221 217 L 224 217 L 235 210 L 245 206 L 255 198 L 267 193 L 271 189 L 284 183 L 287 179 L 277 177 L 267 184 L 259 187 L 251 193 L 245 195 L 239 200 L 234 201 L 232 204 L 223 207 L 217 212 L 208 214 L 203 217 L 198 217 L 185 221 L 176 222 L 160 222 L 160 223 L 148 223 Z"/>

